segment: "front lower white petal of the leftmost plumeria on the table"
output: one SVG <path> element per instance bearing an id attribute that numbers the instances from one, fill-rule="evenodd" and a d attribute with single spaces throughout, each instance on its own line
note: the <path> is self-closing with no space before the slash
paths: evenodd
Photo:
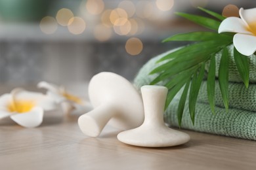
<path id="1" fill-rule="evenodd" d="M 43 122 L 43 109 L 34 107 L 30 112 L 14 114 L 11 119 L 24 127 L 37 127 Z"/>

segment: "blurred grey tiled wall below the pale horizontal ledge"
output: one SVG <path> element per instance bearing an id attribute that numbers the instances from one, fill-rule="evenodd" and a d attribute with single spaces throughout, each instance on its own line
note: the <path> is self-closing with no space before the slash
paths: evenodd
<path id="1" fill-rule="evenodd" d="M 175 46 L 178 46 L 176 44 Z M 133 80 L 153 56 L 175 46 L 146 41 L 138 56 L 125 52 L 125 41 L 110 42 L 0 42 L 0 83 L 57 84 L 86 82 L 100 71 L 112 71 Z"/>

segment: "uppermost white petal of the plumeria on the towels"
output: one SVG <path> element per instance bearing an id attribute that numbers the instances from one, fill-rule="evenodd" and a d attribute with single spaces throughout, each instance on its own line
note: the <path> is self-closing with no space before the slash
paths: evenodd
<path id="1" fill-rule="evenodd" d="M 256 8 L 254 9 L 243 9 L 239 10 L 240 17 L 247 24 L 256 24 Z"/>

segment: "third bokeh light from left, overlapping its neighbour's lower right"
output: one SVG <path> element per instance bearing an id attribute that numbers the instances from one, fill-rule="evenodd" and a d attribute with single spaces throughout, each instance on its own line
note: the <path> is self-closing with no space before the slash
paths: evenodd
<path id="1" fill-rule="evenodd" d="M 74 35 L 79 35 L 85 31 L 85 21 L 83 18 L 75 16 L 74 18 L 70 19 L 70 22 L 68 23 L 68 31 Z"/>

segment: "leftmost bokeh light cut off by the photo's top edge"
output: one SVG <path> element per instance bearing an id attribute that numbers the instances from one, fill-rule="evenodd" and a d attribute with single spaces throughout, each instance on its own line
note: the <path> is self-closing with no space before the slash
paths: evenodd
<path id="1" fill-rule="evenodd" d="M 104 10 L 104 2 L 102 0 L 87 0 L 86 9 L 90 14 L 97 15 Z"/>

